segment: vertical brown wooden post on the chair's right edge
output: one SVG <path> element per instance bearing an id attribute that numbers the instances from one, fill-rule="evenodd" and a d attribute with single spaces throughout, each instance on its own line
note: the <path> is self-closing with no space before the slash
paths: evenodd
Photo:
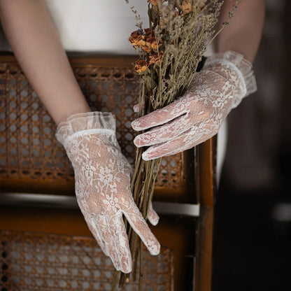
<path id="1" fill-rule="evenodd" d="M 194 269 L 195 291 L 211 291 L 216 143 L 215 136 L 197 147 L 197 193 L 200 215 Z"/>

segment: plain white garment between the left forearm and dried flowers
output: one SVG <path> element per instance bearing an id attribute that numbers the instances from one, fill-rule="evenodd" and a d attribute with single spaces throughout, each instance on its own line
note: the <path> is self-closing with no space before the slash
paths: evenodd
<path id="1" fill-rule="evenodd" d="M 45 0 L 65 50 L 136 54 L 128 38 L 136 30 L 134 9 L 148 27 L 146 0 Z"/>

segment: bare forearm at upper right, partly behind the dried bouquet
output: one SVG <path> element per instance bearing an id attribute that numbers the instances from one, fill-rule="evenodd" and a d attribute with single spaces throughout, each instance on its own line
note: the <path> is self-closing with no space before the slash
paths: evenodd
<path id="1" fill-rule="evenodd" d="M 218 27 L 227 20 L 234 3 L 234 0 L 225 0 Z M 253 62 L 262 36 L 264 17 L 264 0 L 241 0 L 229 26 L 225 27 L 218 36 L 217 51 L 233 50 L 244 55 L 249 62 Z"/>

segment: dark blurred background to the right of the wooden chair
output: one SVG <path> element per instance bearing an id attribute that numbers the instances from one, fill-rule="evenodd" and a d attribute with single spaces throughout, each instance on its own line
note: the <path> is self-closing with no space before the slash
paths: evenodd
<path id="1" fill-rule="evenodd" d="M 291 290 L 291 1 L 266 0 L 258 90 L 229 115 L 213 290 Z"/>

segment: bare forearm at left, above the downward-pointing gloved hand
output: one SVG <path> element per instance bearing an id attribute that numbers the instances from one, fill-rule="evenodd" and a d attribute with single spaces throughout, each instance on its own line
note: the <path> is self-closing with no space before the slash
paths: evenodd
<path id="1" fill-rule="evenodd" d="M 3 29 L 22 70 L 56 123 L 90 111 L 43 0 L 0 0 Z"/>

